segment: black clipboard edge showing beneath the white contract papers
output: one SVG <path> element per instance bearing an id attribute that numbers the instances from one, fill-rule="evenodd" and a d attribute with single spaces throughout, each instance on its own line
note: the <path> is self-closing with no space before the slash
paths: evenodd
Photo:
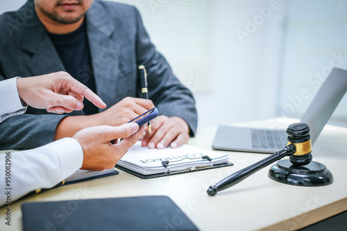
<path id="1" fill-rule="evenodd" d="M 217 169 L 219 167 L 228 167 L 228 166 L 232 166 L 234 165 L 234 163 L 228 162 L 228 163 L 221 163 L 218 165 L 210 165 L 210 166 L 205 166 L 205 167 L 198 167 L 198 168 L 190 168 L 190 169 L 185 169 L 185 170 L 181 170 L 181 171 L 177 171 L 177 172 L 165 172 L 165 173 L 161 173 L 161 174 L 150 174 L 150 175 L 144 175 L 144 174 L 139 174 L 138 172 L 135 172 L 133 170 L 127 169 L 125 167 L 121 167 L 116 165 L 115 167 L 123 172 L 126 172 L 128 174 L 132 174 L 134 176 L 137 176 L 139 178 L 142 179 L 151 179 L 151 178 L 157 178 L 157 177 L 162 177 L 162 176 L 172 176 L 172 175 L 178 175 L 178 174 L 185 174 L 188 172 L 199 172 L 199 171 L 203 171 L 203 170 L 208 170 L 208 169 Z"/>

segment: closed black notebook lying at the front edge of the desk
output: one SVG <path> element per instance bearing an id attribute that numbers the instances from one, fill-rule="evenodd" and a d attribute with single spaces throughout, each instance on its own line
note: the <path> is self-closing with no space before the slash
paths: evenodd
<path id="1" fill-rule="evenodd" d="M 22 204 L 23 230 L 198 230 L 167 196 Z"/>

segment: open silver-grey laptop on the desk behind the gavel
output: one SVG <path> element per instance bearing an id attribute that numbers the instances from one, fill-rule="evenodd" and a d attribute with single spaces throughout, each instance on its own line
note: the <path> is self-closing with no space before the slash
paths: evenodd
<path id="1" fill-rule="evenodd" d="M 314 100 L 301 118 L 310 126 L 314 145 L 323 127 L 347 91 L 347 71 L 333 68 Z M 213 149 L 274 153 L 287 145 L 285 129 L 255 129 L 219 125 L 212 143 Z"/>

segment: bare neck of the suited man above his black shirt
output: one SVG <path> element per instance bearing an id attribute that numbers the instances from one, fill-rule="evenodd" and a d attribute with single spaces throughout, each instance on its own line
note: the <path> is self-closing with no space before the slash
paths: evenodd
<path id="1" fill-rule="evenodd" d="M 36 10 L 37 17 L 40 19 L 46 30 L 53 34 L 67 34 L 77 30 L 82 24 L 84 17 L 74 24 L 61 24 L 46 17 L 40 10 Z"/>

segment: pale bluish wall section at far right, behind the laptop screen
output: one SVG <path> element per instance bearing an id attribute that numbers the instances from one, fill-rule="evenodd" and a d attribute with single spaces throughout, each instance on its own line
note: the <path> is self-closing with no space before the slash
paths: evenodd
<path id="1" fill-rule="evenodd" d="M 301 118 L 331 69 L 347 69 L 346 28 L 346 0 L 289 1 L 278 102 L 282 115 Z M 347 96 L 330 123 L 347 125 Z"/>

